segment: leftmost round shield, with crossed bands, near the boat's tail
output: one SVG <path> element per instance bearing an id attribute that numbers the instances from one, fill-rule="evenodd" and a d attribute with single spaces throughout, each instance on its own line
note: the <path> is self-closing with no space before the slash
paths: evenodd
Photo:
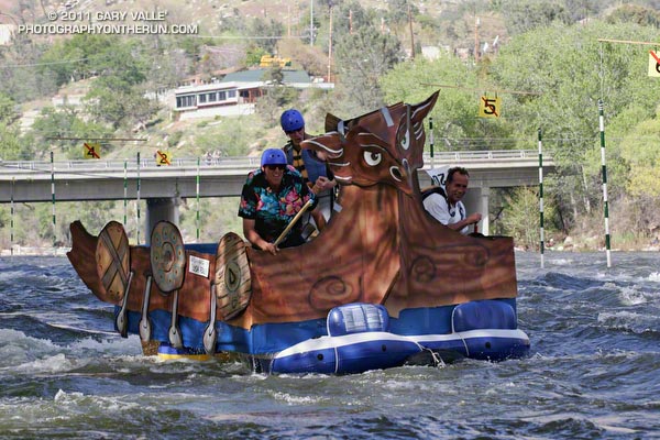
<path id="1" fill-rule="evenodd" d="M 101 285 L 119 304 L 124 297 L 131 270 L 131 249 L 121 223 L 110 221 L 103 227 L 95 256 Z"/>

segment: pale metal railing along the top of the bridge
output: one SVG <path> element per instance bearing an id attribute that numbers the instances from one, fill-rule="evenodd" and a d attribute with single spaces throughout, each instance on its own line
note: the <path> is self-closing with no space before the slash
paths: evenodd
<path id="1" fill-rule="evenodd" d="M 431 156 L 428 152 L 424 155 L 425 163 L 431 162 Z M 538 151 L 536 150 L 493 150 L 493 151 L 455 151 L 455 152 L 437 152 L 433 154 L 435 162 L 473 162 L 473 161 L 491 161 L 491 160 L 536 160 Z M 550 157 L 548 157 L 550 160 Z M 170 165 L 164 167 L 188 168 L 197 167 L 197 157 L 180 157 L 172 160 Z M 258 168 L 260 157 L 256 156 L 232 156 L 220 158 L 200 158 L 199 166 L 207 168 L 222 169 L 245 169 Z M 157 168 L 162 165 L 156 164 L 153 158 L 142 158 L 140 161 L 141 169 Z M 134 170 L 138 168 L 135 160 L 70 160 L 55 161 L 53 168 L 56 172 L 85 172 L 94 173 L 102 172 L 119 172 L 124 169 Z M 51 162 L 48 161 L 0 161 L 0 174 L 11 174 L 16 170 L 45 173 L 51 170 Z"/>

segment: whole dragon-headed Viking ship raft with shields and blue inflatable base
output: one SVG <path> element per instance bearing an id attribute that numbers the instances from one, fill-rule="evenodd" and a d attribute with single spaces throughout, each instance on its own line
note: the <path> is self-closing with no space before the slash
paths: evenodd
<path id="1" fill-rule="evenodd" d="M 122 336 L 238 353 L 257 371 L 353 373 L 427 351 L 436 361 L 524 355 L 513 240 L 462 235 L 424 209 L 417 173 L 437 100 L 327 117 L 327 133 L 302 147 L 328 157 L 342 209 L 300 246 L 272 255 L 230 232 L 213 255 L 160 222 L 148 249 L 129 246 L 120 223 L 94 237 L 74 222 L 67 255 L 116 305 Z"/>

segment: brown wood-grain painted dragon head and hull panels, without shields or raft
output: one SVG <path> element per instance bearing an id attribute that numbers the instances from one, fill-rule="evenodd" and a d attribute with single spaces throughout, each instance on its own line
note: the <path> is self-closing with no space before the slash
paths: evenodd
<path id="1" fill-rule="evenodd" d="M 424 165 L 424 119 L 437 99 L 438 92 L 415 106 L 399 102 L 346 121 L 328 116 L 328 132 L 302 146 L 328 156 L 342 185 L 342 210 L 301 246 L 277 255 L 246 248 L 252 297 L 229 323 L 249 329 L 324 318 L 332 307 L 354 301 L 384 304 L 398 316 L 404 308 L 516 296 L 512 239 L 461 235 L 424 209 L 417 169 Z M 67 256 L 80 278 L 101 300 L 119 304 L 97 275 L 97 238 L 79 222 L 72 223 L 72 238 Z M 216 255 L 189 255 L 209 260 L 211 276 L 217 274 Z M 150 251 L 131 246 L 130 258 L 135 275 L 129 309 L 139 311 Z M 187 272 L 179 315 L 208 321 L 209 308 L 210 279 Z M 152 284 L 154 309 L 172 310 L 172 296 Z"/>

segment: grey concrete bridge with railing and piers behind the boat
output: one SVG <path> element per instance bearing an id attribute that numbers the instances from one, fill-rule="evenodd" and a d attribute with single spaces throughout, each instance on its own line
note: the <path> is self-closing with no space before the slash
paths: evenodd
<path id="1" fill-rule="evenodd" d="M 482 212 L 481 231 L 488 233 L 491 188 L 539 183 L 539 156 L 534 150 L 440 152 L 425 154 L 420 186 L 431 184 L 427 169 L 464 166 L 470 170 L 469 211 Z M 178 221 L 177 198 L 237 197 L 260 157 L 180 158 L 168 166 L 155 160 L 4 161 L 0 162 L 0 204 L 145 199 L 148 231 L 162 219 Z M 554 170 L 543 157 L 543 172 Z"/>

